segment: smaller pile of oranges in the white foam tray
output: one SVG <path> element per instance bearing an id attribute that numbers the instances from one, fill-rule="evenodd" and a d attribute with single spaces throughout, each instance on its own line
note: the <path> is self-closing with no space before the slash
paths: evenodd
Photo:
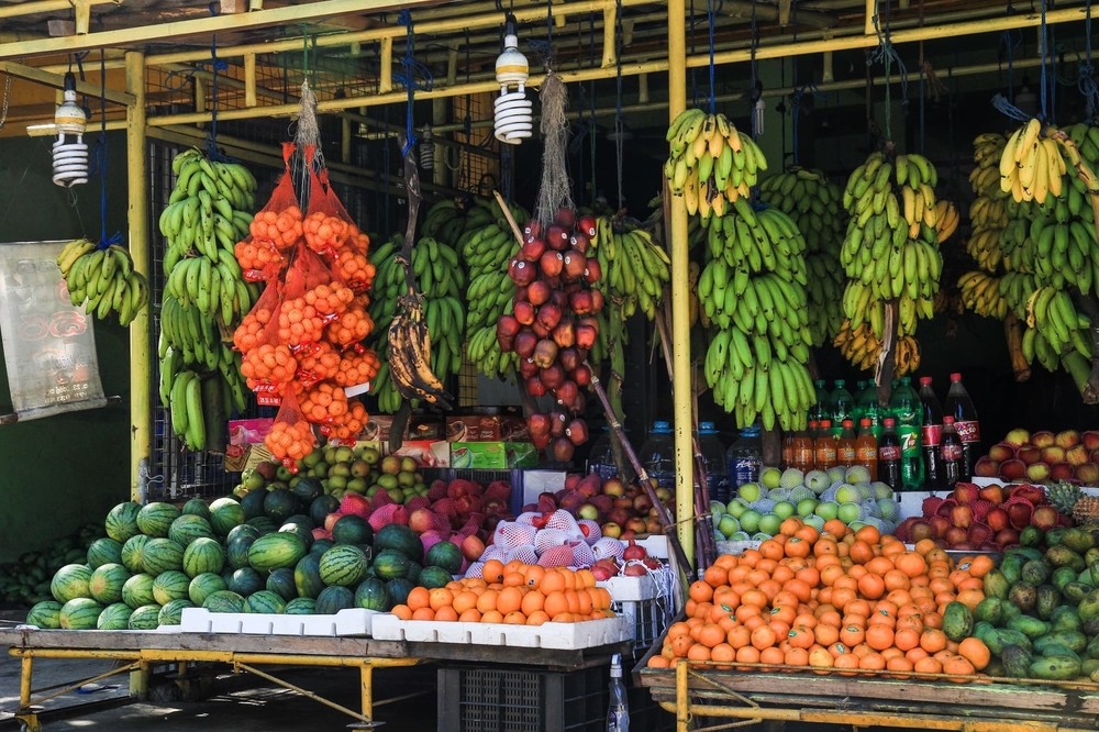
<path id="1" fill-rule="evenodd" d="M 610 607 L 610 592 L 596 587 L 589 569 L 489 559 L 481 577 L 417 587 L 392 613 L 401 620 L 542 625 L 613 618 Z"/>

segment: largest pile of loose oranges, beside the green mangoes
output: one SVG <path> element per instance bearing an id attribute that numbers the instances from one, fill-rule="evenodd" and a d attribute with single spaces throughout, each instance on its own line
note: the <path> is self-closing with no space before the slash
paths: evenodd
<path id="1" fill-rule="evenodd" d="M 686 620 L 674 623 L 651 667 L 678 658 L 721 668 L 782 667 L 892 678 L 946 674 L 964 681 L 989 663 L 976 637 L 943 632 L 946 605 L 984 599 L 987 556 L 955 565 L 926 540 L 908 550 L 874 526 L 798 518 L 757 550 L 721 555 L 691 584 Z M 737 666 L 736 664 L 751 664 Z"/>

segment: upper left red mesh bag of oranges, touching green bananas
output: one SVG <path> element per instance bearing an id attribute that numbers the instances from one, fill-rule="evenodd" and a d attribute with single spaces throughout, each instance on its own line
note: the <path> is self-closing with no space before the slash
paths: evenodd
<path id="1" fill-rule="evenodd" d="M 251 236 L 238 242 L 234 254 L 244 271 L 244 278 L 249 281 L 270 279 L 286 260 L 286 253 L 302 241 L 302 220 L 304 217 L 298 204 L 298 196 L 293 190 L 293 177 L 290 173 L 290 158 L 295 152 L 293 143 L 282 143 L 282 159 L 286 169 L 270 199 L 248 226 Z M 312 156 L 311 151 L 308 156 Z"/>

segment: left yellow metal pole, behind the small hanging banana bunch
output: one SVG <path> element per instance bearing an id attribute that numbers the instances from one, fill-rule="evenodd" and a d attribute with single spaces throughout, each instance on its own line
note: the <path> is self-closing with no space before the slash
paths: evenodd
<path id="1" fill-rule="evenodd" d="M 134 97 L 126 107 L 126 224 L 134 271 L 148 277 L 148 149 L 145 137 L 145 54 L 126 53 L 126 91 Z M 144 476 L 148 475 L 152 451 L 149 384 L 149 307 L 130 324 L 130 497 L 144 498 Z"/>

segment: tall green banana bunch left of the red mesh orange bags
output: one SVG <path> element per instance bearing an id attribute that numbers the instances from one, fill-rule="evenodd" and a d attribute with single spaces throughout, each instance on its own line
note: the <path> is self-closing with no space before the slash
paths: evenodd
<path id="1" fill-rule="evenodd" d="M 248 235 L 256 180 L 236 163 L 187 149 L 171 162 L 176 185 L 160 213 L 166 241 L 160 303 L 159 396 L 188 450 L 220 448 L 203 415 L 243 412 L 248 389 L 241 356 L 223 341 L 259 296 L 236 262 Z"/>

